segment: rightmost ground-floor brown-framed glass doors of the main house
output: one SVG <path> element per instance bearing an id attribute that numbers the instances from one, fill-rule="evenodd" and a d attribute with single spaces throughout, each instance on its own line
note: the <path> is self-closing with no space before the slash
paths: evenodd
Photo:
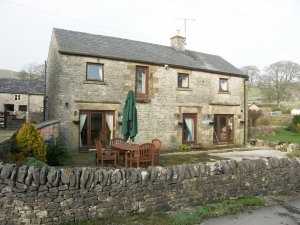
<path id="1" fill-rule="evenodd" d="M 233 115 L 214 115 L 214 144 L 230 144 L 234 141 Z"/>

